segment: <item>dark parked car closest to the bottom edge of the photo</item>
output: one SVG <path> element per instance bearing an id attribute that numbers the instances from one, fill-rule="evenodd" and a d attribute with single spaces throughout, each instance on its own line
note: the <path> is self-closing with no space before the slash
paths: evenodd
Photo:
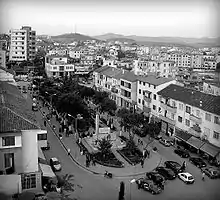
<path id="1" fill-rule="evenodd" d="M 136 183 L 138 185 L 138 189 L 143 189 L 151 194 L 160 194 L 162 192 L 162 189 L 149 179 L 140 178 L 136 180 Z"/>

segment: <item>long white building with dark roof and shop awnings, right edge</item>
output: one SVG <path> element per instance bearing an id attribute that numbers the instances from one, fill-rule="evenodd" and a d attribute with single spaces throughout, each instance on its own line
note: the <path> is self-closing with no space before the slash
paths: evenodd
<path id="1" fill-rule="evenodd" d="M 173 84 L 158 95 L 162 131 L 220 160 L 220 97 Z M 188 137 L 182 137 L 180 130 Z"/>

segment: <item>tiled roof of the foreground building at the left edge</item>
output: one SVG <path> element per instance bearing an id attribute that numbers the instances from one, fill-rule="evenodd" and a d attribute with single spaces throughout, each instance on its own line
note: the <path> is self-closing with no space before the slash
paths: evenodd
<path id="1" fill-rule="evenodd" d="M 14 85 L 0 82 L 0 133 L 40 129 L 34 113 Z"/>

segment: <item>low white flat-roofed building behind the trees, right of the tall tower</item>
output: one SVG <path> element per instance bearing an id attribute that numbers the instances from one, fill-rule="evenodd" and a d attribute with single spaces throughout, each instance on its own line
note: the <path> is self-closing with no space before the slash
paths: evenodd
<path id="1" fill-rule="evenodd" d="M 74 64 L 69 64 L 66 56 L 45 56 L 45 71 L 48 77 L 70 76 L 75 72 Z"/>

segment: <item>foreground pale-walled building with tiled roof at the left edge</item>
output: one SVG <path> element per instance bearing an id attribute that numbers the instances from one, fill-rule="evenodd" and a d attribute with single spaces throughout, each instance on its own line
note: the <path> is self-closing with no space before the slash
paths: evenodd
<path id="1" fill-rule="evenodd" d="M 9 194 L 41 189 L 38 134 L 42 131 L 16 86 L 0 82 L 0 188 Z"/>

